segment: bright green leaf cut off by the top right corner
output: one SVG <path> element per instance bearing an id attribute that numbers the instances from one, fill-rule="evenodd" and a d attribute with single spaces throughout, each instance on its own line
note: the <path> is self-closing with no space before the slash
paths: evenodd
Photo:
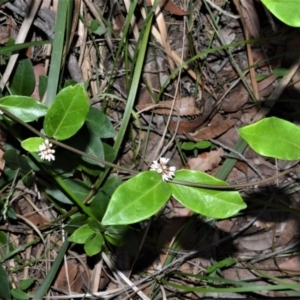
<path id="1" fill-rule="evenodd" d="M 261 0 L 261 2 L 283 23 L 300 27 L 300 0 Z"/>

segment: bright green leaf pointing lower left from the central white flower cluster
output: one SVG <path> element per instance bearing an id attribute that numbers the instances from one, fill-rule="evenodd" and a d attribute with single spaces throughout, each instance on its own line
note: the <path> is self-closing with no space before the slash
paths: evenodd
<path id="1" fill-rule="evenodd" d="M 171 189 L 155 171 L 140 173 L 113 193 L 103 217 L 103 225 L 122 225 L 145 220 L 169 200 Z"/>

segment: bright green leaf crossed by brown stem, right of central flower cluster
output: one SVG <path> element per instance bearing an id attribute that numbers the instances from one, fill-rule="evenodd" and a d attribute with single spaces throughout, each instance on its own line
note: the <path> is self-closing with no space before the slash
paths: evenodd
<path id="1" fill-rule="evenodd" d="M 179 170 L 174 179 L 210 185 L 227 185 L 222 180 L 194 170 Z M 246 208 L 245 202 L 236 191 L 203 189 L 175 183 L 170 185 L 172 196 L 177 201 L 192 211 L 210 218 L 228 218 Z"/>

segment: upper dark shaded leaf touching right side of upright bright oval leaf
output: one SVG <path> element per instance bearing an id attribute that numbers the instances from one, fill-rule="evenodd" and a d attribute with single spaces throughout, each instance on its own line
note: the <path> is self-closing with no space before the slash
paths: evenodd
<path id="1" fill-rule="evenodd" d="M 86 118 L 86 126 L 100 138 L 111 138 L 116 135 L 108 117 L 99 109 L 90 107 Z"/>

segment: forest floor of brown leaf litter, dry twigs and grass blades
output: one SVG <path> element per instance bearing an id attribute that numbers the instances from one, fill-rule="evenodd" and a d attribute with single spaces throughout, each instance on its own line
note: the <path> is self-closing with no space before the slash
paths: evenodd
<path id="1" fill-rule="evenodd" d="M 32 7 L 26 1 L 0 2 L 0 45 L 5 47 L 18 37 Z M 61 83 L 85 83 L 90 105 L 105 112 L 116 131 L 130 90 L 135 46 L 146 22 L 143 10 L 151 3 L 139 1 L 119 48 L 130 1 L 74 1 Z M 81 246 L 72 245 L 45 297 L 299 299 L 300 289 L 292 286 L 299 284 L 300 274 L 298 161 L 241 149 L 237 131 L 269 116 L 299 124 L 299 30 L 254 0 L 166 0 L 160 10 L 115 163 L 143 171 L 167 157 L 177 170 L 203 171 L 229 184 L 253 182 L 239 189 L 248 207 L 216 220 L 171 199 L 155 217 L 133 226 L 135 234 L 125 237 L 121 247 L 88 257 Z M 24 41 L 53 39 L 57 13 L 57 1 L 42 1 Z M 50 44 L 28 47 L 18 58 L 30 60 L 36 86 L 29 96 L 41 102 L 39 84 L 49 75 L 51 51 Z M 8 57 L 0 59 L 3 74 Z M 2 155 L 10 135 L 2 130 Z M 4 172 L 5 164 L 1 166 Z M 255 185 L 292 167 L 286 176 Z M 78 172 L 77 177 L 86 176 Z M 128 178 L 126 172 L 115 174 Z M 1 196 L 9 195 L 9 207 L 18 216 L 2 218 L 0 226 L 0 257 L 10 287 L 24 293 L 15 292 L 14 299 L 30 299 L 43 284 L 64 241 L 62 225 L 68 222 L 43 229 L 60 212 L 43 196 L 43 178 L 35 176 L 30 184 L 19 177 L 16 182 L 1 179 Z M 14 184 L 20 188 L 11 192 Z M 44 241 L 34 242 L 37 232 Z M 27 279 L 33 280 L 22 289 Z"/>

